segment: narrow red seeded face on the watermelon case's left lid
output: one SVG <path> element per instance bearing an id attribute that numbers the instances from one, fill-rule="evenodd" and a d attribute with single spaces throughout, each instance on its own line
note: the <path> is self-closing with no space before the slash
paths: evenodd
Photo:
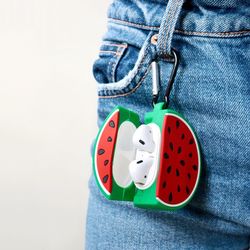
<path id="1" fill-rule="evenodd" d="M 119 110 L 116 110 L 103 125 L 96 143 L 96 175 L 100 186 L 108 195 L 112 192 L 112 161 L 118 124 Z"/>

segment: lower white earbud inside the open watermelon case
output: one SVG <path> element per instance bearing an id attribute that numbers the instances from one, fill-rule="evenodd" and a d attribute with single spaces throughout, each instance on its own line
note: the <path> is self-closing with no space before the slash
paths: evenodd
<path id="1" fill-rule="evenodd" d="M 144 185 L 152 165 L 153 158 L 151 157 L 132 161 L 129 164 L 129 172 L 134 183 Z"/>

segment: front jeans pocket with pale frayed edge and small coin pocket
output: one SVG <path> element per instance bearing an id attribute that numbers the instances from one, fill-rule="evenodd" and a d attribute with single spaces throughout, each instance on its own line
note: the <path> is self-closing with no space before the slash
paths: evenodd
<path id="1" fill-rule="evenodd" d="M 99 97 L 129 95 L 140 85 L 154 53 L 154 46 L 150 43 L 152 35 L 150 32 L 145 36 L 141 47 L 133 44 L 133 36 L 127 36 L 124 41 L 122 38 L 103 40 L 99 57 L 93 65 Z"/>

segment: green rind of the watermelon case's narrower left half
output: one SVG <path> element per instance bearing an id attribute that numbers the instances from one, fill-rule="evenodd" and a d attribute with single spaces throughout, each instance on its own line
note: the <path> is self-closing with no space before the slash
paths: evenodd
<path id="1" fill-rule="evenodd" d="M 104 187 L 104 185 L 102 184 L 99 175 L 98 175 L 98 170 L 97 170 L 97 150 L 98 150 L 98 144 L 99 144 L 99 140 L 101 138 L 101 135 L 103 133 L 103 130 L 105 129 L 107 123 L 109 122 L 110 118 L 116 113 L 119 112 L 119 120 L 118 120 L 118 129 L 120 127 L 120 125 L 124 122 L 124 121 L 130 121 L 132 122 L 136 127 L 138 127 L 140 125 L 140 120 L 139 120 L 139 116 L 137 114 L 135 114 L 132 111 L 129 111 L 127 109 L 124 109 L 123 107 L 117 106 L 115 107 L 110 113 L 109 115 L 106 117 L 105 121 L 103 122 L 103 125 L 101 126 L 95 143 L 94 143 L 94 151 L 93 151 L 93 156 L 92 156 L 92 165 L 93 165 L 93 172 L 94 172 L 94 176 L 96 179 L 96 183 L 97 186 L 99 187 L 99 189 L 101 190 L 102 194 L 109 200 L 126 200 L 126 201 L 133 201 L 134 199 L 134 194 L 135 194 L 135 185 L 133 183 L 133 181 L 131 180 L 131 184 L 128 185 L 126 188 L 122 188 L 120 187 L 112 174 L 112 191 L 111 193 Z M 118 133 L 118 131 L 117 131 Z M 112 161 L 114 158 L 114 154 L 115 154 L 115 145 L 116 145 L 116 141 L 114 142 L 114 153 L 112 155 Z M 113 171 L 112 171 L 113 172 Z"/>

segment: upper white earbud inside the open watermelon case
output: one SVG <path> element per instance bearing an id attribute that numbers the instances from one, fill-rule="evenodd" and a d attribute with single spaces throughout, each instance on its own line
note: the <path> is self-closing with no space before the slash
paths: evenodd
<path id="1" fill-rule="evenodd" d="M 152 153 L 155 143 L 151 127 L 145 124 L 138 127 L 133 135 L 133 143 L 138 149 Z"/>

